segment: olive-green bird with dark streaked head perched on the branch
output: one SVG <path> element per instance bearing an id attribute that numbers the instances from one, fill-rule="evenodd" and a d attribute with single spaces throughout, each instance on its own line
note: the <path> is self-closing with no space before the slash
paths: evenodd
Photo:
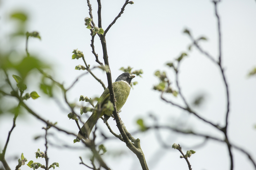
<path id="1" fill-rule="evenodd" d="M 131 75 L 130 73 L 123 73 L 118 76 L 116 81 L 113 83 L 114 93 L 115 93 L 115 99 L 116 99 L 116 109 L 120 110 L 123 105 L 125 104 L 131 90 L 131 79 L 133 79 L 135 76 Z M 109 95 L 109 88 L 106 88 L 102 95 L 100 96 L 99 102 L 95 105 L 95 110 L 93 110 L 92 115 L 89 117 L 89 119 L 85 122 L 83 127 L 81 128 L 82 132 L 86 134 L 85 136 L 88 138 L 92 128 L 96 124 L 97 120 L 104 116 L 104 123 L 109 119 L 109 117 L 112 115 L 112 110 L 106 109 L 104 107 L 104 104 L 107 104 L 110 101 L 110 95 Z M 101 112 L 97 111 L 100 110 Z M 81 136 L 80 133 L 78 133 L 78 136 L 80 138 L 84 138 Z"/>

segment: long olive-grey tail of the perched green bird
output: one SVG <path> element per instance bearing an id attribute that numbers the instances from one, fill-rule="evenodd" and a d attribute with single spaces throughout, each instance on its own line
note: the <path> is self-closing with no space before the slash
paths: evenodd
<path id="1" fill-rule="evenodd" d="M 96 124 L 97 120 L 99 119 L 99 116 L 97 113 L 93 112 L 92 115 L 89 117 L 89 119 L 85 122 L 85 124 L 82 126 L 81 130 L 85 134 L 86 138 L 90 136 L 90 133 L 92 132 L 92 128 Z M 84 138 L 80 133 L 78 133 L 78 136 L 80 138 Z"/>

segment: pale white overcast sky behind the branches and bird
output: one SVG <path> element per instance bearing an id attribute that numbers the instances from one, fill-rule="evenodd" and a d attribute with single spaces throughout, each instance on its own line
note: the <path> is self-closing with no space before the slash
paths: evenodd
<path id="1" fill-rule="evenodd" d="M 102 27 L 104 30 L 118 15 L 124 2 L 124 0 L 102 0 Z M 94 0 L 91 3 L 94 22 L 97 24 L 97 1 Z M 76 76 L 83 72 L 74 70 L 76 65 L 83 65 L 83 62 L 81 59 L 71 60 L 73 49 L 78 48 L 83 51 L 88 64 L 97 65 L 94 61 L 95 57 L 91 53 L 90 31 L 84 25 L 84 18 L 89 17 L 86 0 L 2 0 L 0 4 L 0 36 L 2 39 L 0 44 L 2 48 L 9 48 L 6 45 L 9 42 L 6 34 L 12 32 L 10 29 L 14 23 L 9 22 L 7 16 L 16 9 L 28 13 L 28 31 L 38 31 L 42 37 L 41 41 L 29 39 L 29 52 L 38 55 L 53 66 L 52 74 L 57 81 L 64 82 L 68 87 Z M 253 126 L 256 124 L 256 78 L 247 78 L 247 74 L 253 66 L 256 66 L 256 2 L 255 0 L 223 0 L 218 5 L 218 11 L 223 37 L 223 67 L 230 90 L 228 136 L 232 143 L 242 146 L 255 160 L 256 129 Z M 192 102 L 198 94 L 205 94 L 206 100 L 202 107 L 195 108 L 195 110 L 209 121 L 220 125 L 224 124 L 226 96 L 220 70 L 197 49 L 192 48 L 192 51 L 188 52 L 190 39 L 182 33 L 185 28 L 190 29 L 194 37 L 207 37 L 208 41 L 200 42 L 200 45 L 217 59 L 217 26 L 214 5 L 210 0 L 134 0 L 134 4 L 126 6 L 124 14 L 107 32 L 107 49 L 113 80 L 122 73 L 119 71 L 122 66 L 131 66 L 144 71 L 143 78 L 136 77 L 134 79 L 138 81 L 138 85 L 131 90 L 120 113 L 128 131 L 132 132 L 138 129 L 136 124 L 138 118 L 144 118 L 145 124 L 151 125 L 152 120 L 149 118 L 149 113 L 152 113 L 159 118 L 163 125 L 175 126 L 181 122 L 184 128 L 223 138 L 223 134 L 211 126 L 164 103 L 159 99 L 160 93 L 152 90 L 153 85 L 158 83 L 157 78 L 154 77 L 156 70 L 167 71 L 168 76 L 174 81 L 173 72 L 165 66 L 165 63 L 173 61 L 185 51 L 189 56 L 182 61 L 180 67 L 180 85 L 183 94 L 189 102 Z M 95 37 L 95 39 L 95 51 L 99 54 L 100 61 L 103 62 L 99 38 Z M 21 41 L 18 48 L 25 54 L 25 41 Z M 94 70 L 93 72 L 107 85 L 106 74 L 103 71 Z M 31 76 L 29 80 L 35 81 L 33 85 L 28 86 L 27 91 L 36 90 L 41 97 L 36 100 L 28 100 L 28 105 L 45 119 L 52 122 L 57 121 L 59 127 L 77 133 L 75 122 L 67 118 L 69 112 L 59 109 L 54 100 L 48 99 L 39 90 L 37 83 L 40 80 L 38 78 Z M 56 89 L 57 93 L 59 91 Z M 68 100 L 82 104 L 78 102 L 80 95 L 99 97 L 102 92 L 102 86 L 92 76 L 86 75 L 68 93 Z M 61 97 L 59 98 L 61 99 Z M 169 98 L 175 102 L 181 102 L 179 98 Z M 62 99 L 61 101 L 64 103 Z M 65 108 L 67 107 L 65 106 Z M 83 118 L 83 121 L 86 121 L 86 116 Z M 118 133 L 115 122 L 112 119 L 109 119 L 108 122 Z M 10 167 L 14 169 L 17 165 L 17 159 L 11 160 L 10 158 L 13 155 L 20 156 L 22 152 L 28 161 L 45 163 L 41 158 L 36 160 L 34 154 L 38 148 L 45 151 L 44 140 L 33 140 L 33 137 L 44 134 L 42 126 L 45 125 L 28 113 L 19 116 L 16 125 L 6 153 Z M 102 121 L 99 121 L 97 125 L 107 133 L 107 127 Z M 1 116 L 1 150 L 11 126 L 12 117 Z M 72 136 L 56 133 L 57 131 L 53 128 L 50 129 L 50 132 L 57 134 L 59 138 L 55 140 L 49 136 L 49 141 L 52 143 L 61 145 L 64 140 L 65 144 L 82 146 L 81 143 L 73 144 Z M 110 133 L 107 134 L 111 136 Z M 191 149 L 196 151 L 189 159 L 193 169 L 227 170 L 230 167 L 228 149 L 223 143 L 208 141 L 203 147 L 195 148 L 194 146 L 202 143 L 204 139 L 169 131 L 163 131 L 161 134 L 169 145 L 179 143 L 183 146 L 184 152 Z M 141 147 L 149 169 L 187 169 L 185 160 L 179 158 L 180 153 L 177 150 L 161 149 L 154 131 L 135 134 L 134 137 L 141 140 Z M 136 155 L 126 147 L 125 143 L 114 139 L 108 140 L 105 146 L 108 152 L 103 158 L 112 170 L 141 169 Z M 122 151 L 124 154 L 114 156 L 116 151 Z M 232 151 L 235 170 L 253 169 L 253 165 L 246 155 L 234 149 Z M 86 169 L 83 165 L 79 165 L 79 156 L 83 156 L 83 160 L 90 165 L 90 162 L 86 160 L 86 155 L 88 156 L 89 153 L 88 149 L 59 150 L 50 145 L 48 148 L 49 162 L 58 162 L 60 169 Z M 25 165 L 21 169 L 28 170 L 30 168 Z"/>

